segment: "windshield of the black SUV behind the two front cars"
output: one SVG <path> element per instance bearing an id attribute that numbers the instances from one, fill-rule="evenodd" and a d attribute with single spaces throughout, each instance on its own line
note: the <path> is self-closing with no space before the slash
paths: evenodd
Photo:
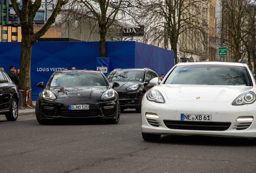
<path id="1" fill-rule="evenodd" d="M 107 75 L 108 81 L 144 81 L 144 71 L 112 71 Z"/>

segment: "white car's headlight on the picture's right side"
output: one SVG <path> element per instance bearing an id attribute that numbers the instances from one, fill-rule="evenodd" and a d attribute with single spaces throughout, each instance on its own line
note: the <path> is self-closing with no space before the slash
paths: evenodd
<path id="1" fill-rule="evenodd" d="M 247 105 L 252 104 L 255 102 L 255 93 L 250 91 L 247 93 L 244 93 L 242 95 L 239 95 L 235 101 L 233 101 L 232 105 Z"/>

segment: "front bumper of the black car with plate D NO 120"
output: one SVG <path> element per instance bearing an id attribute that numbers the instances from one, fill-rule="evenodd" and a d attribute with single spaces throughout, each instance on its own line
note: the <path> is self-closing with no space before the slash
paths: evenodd
<path id="1" fill-rule="evenodd" d="M 68 110 L 68 105 L 57 101 L 40 101 L 40 118 L 42 119 L 117 119 L 118 100 L 89 104 L 89 110 Z M 70 104 L 75 105 L 75 104 Z"/>

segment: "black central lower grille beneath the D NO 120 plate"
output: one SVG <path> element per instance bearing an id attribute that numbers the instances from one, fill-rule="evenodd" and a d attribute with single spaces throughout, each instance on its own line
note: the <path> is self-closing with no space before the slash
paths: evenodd
<path id="1" fill-rule="evenodd" d="M 60 110 L 60 117 L 98 117 L 98 109 L 89 110 Z"/>

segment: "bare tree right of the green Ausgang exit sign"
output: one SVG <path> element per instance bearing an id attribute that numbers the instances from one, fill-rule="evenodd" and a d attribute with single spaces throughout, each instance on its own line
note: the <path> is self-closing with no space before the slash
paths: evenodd
<path id="1" fill-rule="evenodd" d="M 246 38 L 251 27 L 248 28 L 248 6 L 250 0 L 223 0 L 222 1 L 222 44 L 231 50 L 233 62 L 239 62 L 245 57 Z"/>

